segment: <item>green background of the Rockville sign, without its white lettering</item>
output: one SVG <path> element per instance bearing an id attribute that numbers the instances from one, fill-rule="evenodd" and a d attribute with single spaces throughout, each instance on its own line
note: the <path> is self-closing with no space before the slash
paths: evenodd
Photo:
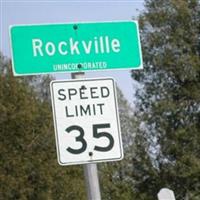
<path id="1" fill-rule="evenodd" d="M 77 29 L 74 29 L 74 25 Z M 120 41 L 120 52 L 84 53 L 80 48 L 80 55 L 61 55 L 56 51 L 55 55 L 33 56 L 32 39 L 41 39 L 43 43 L 69 41 L 69 38 L 79 41 L 93 40 L 94 37 L 108 36 L 110 39 Z M 115 69 L 141 69 L 142 54 L 139 39 L 138 24 L 136 21 L 98 22 L 98 23 L 70 23 L 70 24 L 42 24 L 42 25 L 16 25 L 10 28 L 10 40 L 12 49 L 12 66 L 15 76 L 77 72 Z M 79 63 L 104 62 L 106 68 L 87 68 Z M 53 66 L 74 64 L 73 69 L 55 70 Z"/>

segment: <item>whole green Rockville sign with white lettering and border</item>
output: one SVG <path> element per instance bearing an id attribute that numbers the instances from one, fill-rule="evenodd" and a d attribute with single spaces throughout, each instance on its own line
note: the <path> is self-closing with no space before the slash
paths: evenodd
<path id="1" fill-rule="evenodd" d="M 141 69 L 136 21 L 10 27 L 15 76 Z"/>

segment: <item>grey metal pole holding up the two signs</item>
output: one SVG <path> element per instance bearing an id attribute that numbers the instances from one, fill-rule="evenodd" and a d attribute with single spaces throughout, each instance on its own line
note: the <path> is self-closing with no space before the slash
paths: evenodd
<path id="1" fill-rule="evenodd" d="M 72 73 L 72 79 L 84 78 L 84 72 Z M 84 165 L 84 176 L 87 187 L 88 200 L 101 200 L 97 165 L 94 163 Z"/>

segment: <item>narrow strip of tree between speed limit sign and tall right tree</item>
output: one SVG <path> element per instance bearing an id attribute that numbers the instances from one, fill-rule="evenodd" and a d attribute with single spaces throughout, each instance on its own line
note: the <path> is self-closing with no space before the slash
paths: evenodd
<path id="1" fill-rule="evenodd" d="M 132 200 L 134 197 L 133 180 L 131 174 L 131 161 L 133 154 L 133 141 L 135 137 L 135 118 L 133 109 L 124 98 L 122 92 L 117 90 L 121 133 L 123 140 L 124 159 L 117 162 L 102 163 L 100 169 L 100 185 L 102 199 L 106 200 Z"/>

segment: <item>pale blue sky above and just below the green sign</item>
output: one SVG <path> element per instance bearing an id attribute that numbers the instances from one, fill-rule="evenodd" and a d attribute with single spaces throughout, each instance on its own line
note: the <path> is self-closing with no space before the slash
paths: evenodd
<path id="1" fill-rule="evenodd" d="M 0 0 L 0 50 L 11 57 L 9 26 L 14 24 L 44 24 L 137 19 L 144 10 L 144 0 Z M 125 98 L 133 105 L 134 88 L 130 70 L 87 72 L 87 78 L 113 77 Z M 56 74 L 56 79 L 70 79 L 70 73 Z"/>

